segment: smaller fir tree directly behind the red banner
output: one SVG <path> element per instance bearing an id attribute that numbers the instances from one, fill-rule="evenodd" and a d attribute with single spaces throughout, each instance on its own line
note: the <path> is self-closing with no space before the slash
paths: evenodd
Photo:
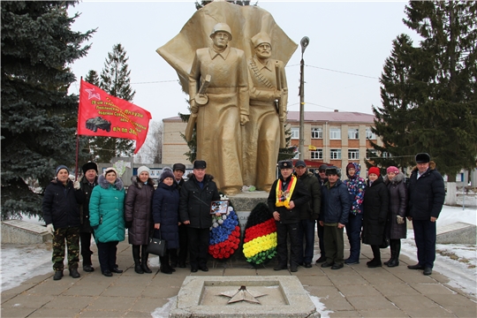
<path id="1" fill-rule="evenodd" d="M 136 92 L 130 84 L 131 71 L 128 70 L 128 59 L 123 46 L 120 43 L 114 45 L 104 63 L 99 87 L 109 95 L 133 102 Z M 110 163 L 113 157 L 133 155 L 134 151 L 134 140 L 95 137 L 95 144 L 95 158 L 101 163 Z"/>

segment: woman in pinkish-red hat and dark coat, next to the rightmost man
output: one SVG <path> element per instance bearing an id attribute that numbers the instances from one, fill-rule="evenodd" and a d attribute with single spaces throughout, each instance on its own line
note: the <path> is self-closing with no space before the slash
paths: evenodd
<path id="1" fill-rule="evenodd" d="M 405 186 L 405 175 L 397 167 L 390 166 L 386 172 L 388 175 L 384 177 L 384 183 L 388 186 L 388 193 L 390 194 L 386 235 L 390 238 L 391 257 L 389 261 L 384 261 L 384 265 L 396 267 L 399 265 L 401 239 L 405 239 L 407 234 L 405 224 L 407 188 Z"/>

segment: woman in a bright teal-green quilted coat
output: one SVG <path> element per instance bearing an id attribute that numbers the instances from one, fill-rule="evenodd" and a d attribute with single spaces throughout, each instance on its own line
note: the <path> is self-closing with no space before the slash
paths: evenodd
<path id="1" fill-rule="evenodd" d="M 125 187 L 117 170 L 107 168 L 98 178 L 89 201 L 89 222 L 95 230 L 102 275 L 122 273 L 117 269 L 117 243 L 125 240 Z"/>

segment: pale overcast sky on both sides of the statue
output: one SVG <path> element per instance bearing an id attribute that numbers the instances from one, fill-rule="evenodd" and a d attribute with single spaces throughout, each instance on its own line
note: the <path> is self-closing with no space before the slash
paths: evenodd
<path id="1" fill-rule="evenodd" d="M 402 33 L 418 39 L 402 22 L 405 4 L 259 2 L 294 42 L 299 43 L 303 36 L 310 39 L 304 55 L 305 110 L 367 114 L 372 114 L 372 105 L 381 104 L 379 77 L 392 41 Z M 83 1 L 69 11 L 81 13 L 72 26 L 74 30 L 85 32 L 97 27 L 87 57 L 72 64 L 78 79 L 72 84 L 72 93 L 79 93 L 79 79 L 89 70 L 101 73 L 108 52 L 121 43 L 129 57 L 131 83 L 136 91 L 133 102 L 149 110 L 155 121 L 178 116 L 178 112 L 188 113 L 187 96 L 178 84 L 177 73 L 155 49 L 176 36 L 193 16 L 194 1 Z M 288 110 L 299 110 L 300 58 L 298 48 L 285 68 Z"/>

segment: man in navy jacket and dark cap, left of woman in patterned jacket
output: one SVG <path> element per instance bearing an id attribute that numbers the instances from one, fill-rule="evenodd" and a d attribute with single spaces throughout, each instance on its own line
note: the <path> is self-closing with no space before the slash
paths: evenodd
<path id="1" fill-rule="evenodd" d="M 343 268 L 345 242 L 343 232 L 352 206 L 348 188 L 339 179 L 341 172 L 337 167 L 326 169 L 328 181 L 322 186 L 322 210 L 320 224 L 324 226 L 324 247 L 326 261 L 322 268 Z"/>

